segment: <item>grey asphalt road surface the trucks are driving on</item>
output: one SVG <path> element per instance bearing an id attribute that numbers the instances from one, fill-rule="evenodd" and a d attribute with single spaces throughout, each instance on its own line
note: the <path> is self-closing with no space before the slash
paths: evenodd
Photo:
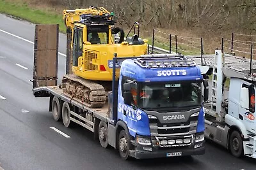
<path id="1" fill-rule="evenodd" d="M 4 15 L 0 21 L 0 169 L 256 169 L 255 159 L 237 159 L 211 142 L 206 143 L 204 155 L 192 158 L 124 161 L 113 148 L 102 148 L 92 132 L 55 122 L 48 98 L 32 94 L 33 44 L 29 41 L 34 39 L 35 25 Z M 59 43 L 65 53 L 64 34 Z M 61 78 L 63 55 L 59 66 Z"/>

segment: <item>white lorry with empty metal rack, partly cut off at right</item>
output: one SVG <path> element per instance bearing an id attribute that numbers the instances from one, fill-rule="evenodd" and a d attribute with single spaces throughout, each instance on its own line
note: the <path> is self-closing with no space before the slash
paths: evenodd
<path id="1" fill-rule="evenodd" d="M 204 62 L 208 66 L 203 69 L 212 70 L 209 102 L 204 103 L 205 138 L 229 149 L 235 157 L 256 159 L 255 60 L 215 50 L 215 56 L 205 56 Z M 223 89 L 226 78 L 230 78 L 228 90 Z"/>

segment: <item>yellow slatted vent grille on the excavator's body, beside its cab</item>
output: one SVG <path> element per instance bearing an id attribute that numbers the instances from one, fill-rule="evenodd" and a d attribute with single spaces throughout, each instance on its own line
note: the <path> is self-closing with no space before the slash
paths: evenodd
<path id="1" fill-rule="evenodd" d="M 98 59 L 97 53 L 85 50 L 84 52 L 84 70 L 85 71 L 98 70 L 98 66 L 92 63 L 93 59 Z"/>

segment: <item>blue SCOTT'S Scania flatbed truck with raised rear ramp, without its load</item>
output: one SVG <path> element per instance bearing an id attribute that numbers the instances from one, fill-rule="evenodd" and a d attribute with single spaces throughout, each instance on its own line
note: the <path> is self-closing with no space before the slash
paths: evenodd
<path id="1" fill-rule="evenodd" d="M 109 61 L 108 101 L 102 108 L 88 108 L 67 94 L 65 83 L 57 85 L 57 53 L 34 55 L 33 95 L 49 97 L 54 120 L 92 131 L 102 147 L 113 146 L 125 160 L 204 154 L 202 104 L 208 90 L 202 87 L 207 81 L 193 60 L 173 54 L 121 58 L 117 53 Z"/>

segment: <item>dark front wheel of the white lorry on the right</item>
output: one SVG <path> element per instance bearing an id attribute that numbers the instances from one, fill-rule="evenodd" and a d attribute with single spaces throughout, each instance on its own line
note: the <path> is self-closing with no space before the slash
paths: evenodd
<path id="1" fill-rule="evenodd" d="M 243 140 L 241 134 L 233 131 L 229 140 L 230 151 L 235 157 L 241 157 L 243 153 Z"/>

